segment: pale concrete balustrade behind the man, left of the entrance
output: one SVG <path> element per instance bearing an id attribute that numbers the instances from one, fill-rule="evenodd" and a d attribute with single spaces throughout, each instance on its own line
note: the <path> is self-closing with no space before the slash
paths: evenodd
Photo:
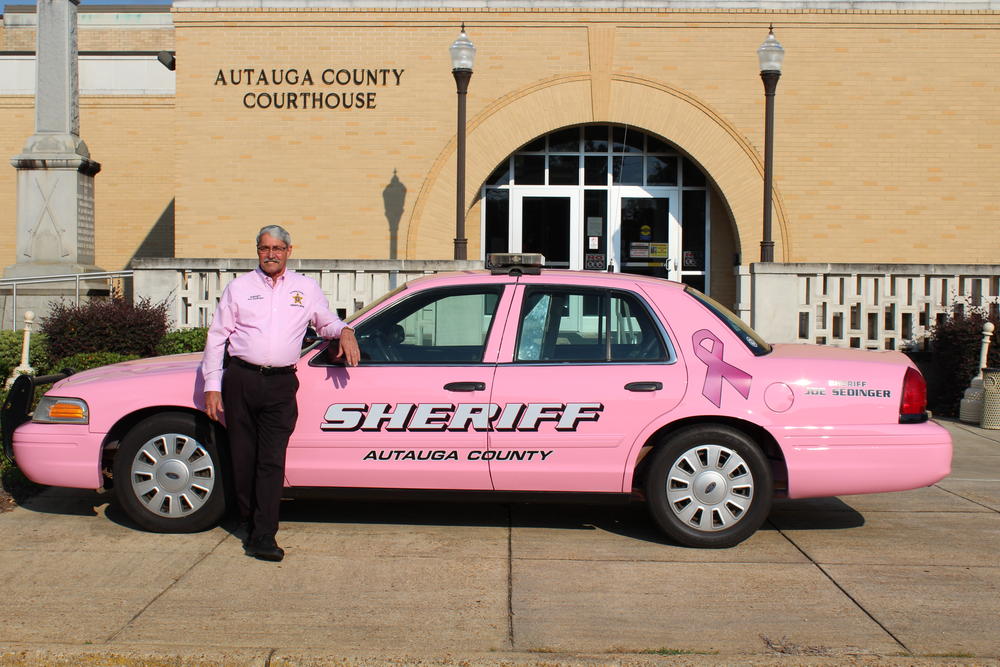
<path id="1" fill-rule="evenodd" d="M 171 326 L 205 327 L 226 285 L 257 262 L 252 259 L 133 260 L 134 294 L 168 303 Z M 463 260 L 288 260 L 288 266 L 314 278 L 330 308 L 346 316 L 408 280 L 442 271 L 483 267 Z"/>

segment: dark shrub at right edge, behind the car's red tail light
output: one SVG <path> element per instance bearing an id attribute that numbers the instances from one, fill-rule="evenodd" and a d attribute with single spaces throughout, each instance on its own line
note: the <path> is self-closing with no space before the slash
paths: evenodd
<path id="1" fill-rule="evenodd" d="M 962 395 L 979 372 L 983 324 L 993 322 L 1000 331 L 1000 318 L 979 308 L 958 308 L 931 333 L 933 373 L 928 403 L 935 413 L 957 417 Z M 1000 366 L 1000 342 L 994 334 L 986 365 Z"/>

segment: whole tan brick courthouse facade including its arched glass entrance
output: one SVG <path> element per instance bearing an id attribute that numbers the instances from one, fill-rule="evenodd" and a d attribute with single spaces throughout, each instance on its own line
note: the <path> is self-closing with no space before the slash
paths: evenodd
<path id="1" fill-rule="evenodd" d="M 158 74 L 166 91 L 81 77 L 81 135 L 103 165 L 98 265 L 252 257 L 267 223 L 292 232 L 299 258 L 451 257 L 448 46 L 462 22 L 477 48 L 470 258 L 540 245 L 579 268 L 670 260 L 671 277 L 733 302 L 734 267 L 759 256 L 755 50 L 772 23 L 787 53 L 775 259 L 1000 257 L 1000 12 L 988 3 L 290 4 L 80 7 L 81 61 L 125 72 L 119 61 L 165 50 L 177 63 Z M 32 11 L 8 6 L 3 67 L 30 60 Z M 0 120 L 10 157 L 33 131 L 30 91 L 0 83 Z M 5 265 L 14 191 L 14 170 L 0 170 Z"/>

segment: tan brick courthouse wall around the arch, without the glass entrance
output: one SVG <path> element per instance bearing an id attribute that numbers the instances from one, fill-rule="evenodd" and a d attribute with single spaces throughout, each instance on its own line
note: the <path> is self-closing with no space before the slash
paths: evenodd
<path id="1" fill-rule="evenodd" d="M 731 264 L 736 251 L 744 261 L 759 255 L 764 105 L 754 51 L 773 21 L 787 50 L 777 96 L 776 258 L 1000 256 L 1000 87 L 990 69 L 1000 12 L 175 9 L 173 18 L 176 109 L 165 100 L 84 105 L 84 139 L 105 165 L 98 254 L 109 268 L 141 245 L 173 193 L 178 256 L 248 256 L 253 232 L 277 222 L 292 231 L 299 257 L 383 258 L 383 190 L 394 173 L 406 187 L 399 256 L 450 257 L 455 88 L 447 47 L 462 20 L 479 50 L 468 98 L 470 206 L 493 167 L 535 136 L 575 123 L 628 123 L 678 145 L 716 184 L 714 224 L 731 216 L 738 236 L 713 249 L 713 284 L 723 280 L 726 256 Z M 98 32 L 103 48 L 145 48 L 111 46 Z M 0 44 L 17 48 L 9 35 Z M 215 85 L 220 68 L 239 67 L 309 68 L 316 85 Z M 247 92 L 356 90 L 322 85 L 328 67 L 405 71 L 399 86 L 362 86 L 376 93 L 372 110 L 243 106 Z M 30 133 L 30 112 L 25 122 L 22 108 L 0 100 L 0 114 L 0 146 L 13 155 Z M 159 147 L 164 161 L 154 170 L 130 141 Z M 164 172 L 166 153 L 176 161 Z M 134 170 L 117 167 L 130 161 Z M 12 184 L 12 174 L 0 177 L 0 192 L 12 193 Z M 102 228 L 111 211 L 121 229 Z M 5 207 L 0 223 L 12 215 Z M 478 256 L 478 207 L 466 227 L 470 256 Z"/>

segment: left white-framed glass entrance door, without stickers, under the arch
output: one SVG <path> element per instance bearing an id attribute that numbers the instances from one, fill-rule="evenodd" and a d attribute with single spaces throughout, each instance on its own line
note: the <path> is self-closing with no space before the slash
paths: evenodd
<path id="1" fill-rule="evenodd" d="M 579 193 L 549 194 L 554 189 L 514 194 L 510 250 L 541 253 L 551 268 L 582 269 Z"/>

